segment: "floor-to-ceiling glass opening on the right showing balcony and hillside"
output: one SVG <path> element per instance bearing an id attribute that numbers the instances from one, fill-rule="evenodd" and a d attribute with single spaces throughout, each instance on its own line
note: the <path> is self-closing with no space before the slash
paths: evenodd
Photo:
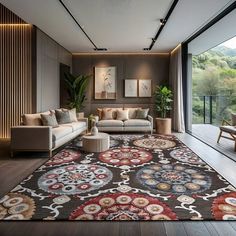
<path id="1" fill-rule="evenodd" d="M 234 143 L 217 144 L 222 120 L 236 113 L 236 10 L 188 43 L 188 131 L 236 160 Z"/>

